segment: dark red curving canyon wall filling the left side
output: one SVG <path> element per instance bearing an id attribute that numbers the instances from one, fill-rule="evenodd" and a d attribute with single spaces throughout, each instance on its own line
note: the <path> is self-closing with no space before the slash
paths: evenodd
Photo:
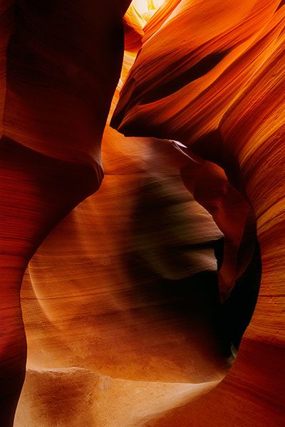
<path id="1" fill-rule="evenodd" d="M 1 422 L 24 379 L 19 290 L 51 228 L 98 189 L 123 58 L 117 1 L 1 2 Z M 111 70 L 111 72 L 110 72 Z"/>

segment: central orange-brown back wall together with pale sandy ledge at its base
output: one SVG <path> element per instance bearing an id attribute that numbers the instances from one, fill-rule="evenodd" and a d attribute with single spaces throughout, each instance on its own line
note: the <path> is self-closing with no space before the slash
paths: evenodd
<path id="1" fill-rule="evenodd" d="M 140 426 L 227 373 L 214 256 L 222 233 L 184 188 L 187 163 L 172 142 L 106 127 L 102 186 L 28 266 L 28 374 L 16 426 L 37 426 L 40 416 L 43 427 L 66 426 L 70 411 L 74 426 L 87 422 L 81 411 L 94 426 Z"/>

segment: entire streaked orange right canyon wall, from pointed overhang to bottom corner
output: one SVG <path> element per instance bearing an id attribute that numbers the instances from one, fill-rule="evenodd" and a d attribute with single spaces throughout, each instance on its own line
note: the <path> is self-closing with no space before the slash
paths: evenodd
<path id="1" fill-rule="evenodd" d="M 192 164 L 182 169 L 182 179 L 192 192 L 197 169 L 207 162 L 222 167 L 227 177 L 214 165 L 205 169 L 197 199 L 233 243 L 232 233 L 242 223 L 253 225 L 254 218 L 241 217 L 234 226 L 228 209 L 238 199 L 244 209 L 250 204 L 261 251 L 259 299 L 232 370 L 207 396 L 147 426 L 284 422 L 284 15 L 279 1 L 227 7 L 222 1 L 180 1 L 161 28 L 154 26 L 121 91 L 113 126 L 125 135 L 185 144 Z M 218 204 L 207 207 L 207 199 L 215 197 L 204 197 L 203 188 L 213 188 L 219 175 Z M 239 192 L 232 206 L 229 191 L 221 191 L 228 185 Z"/>

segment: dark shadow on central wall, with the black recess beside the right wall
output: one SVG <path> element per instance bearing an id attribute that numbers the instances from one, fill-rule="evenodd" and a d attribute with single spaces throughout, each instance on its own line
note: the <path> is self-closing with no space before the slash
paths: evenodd
<path id="1" fill-rule="evenodd" d="M 200 372 L 206 359 L 222 367 L 232 355 L 232 343 L 238 349 L 257 302 L 261 278 L 258 242 L 252 260 L 222 305 L 217 271 L 222 266 L 224 238 L 207 241 L 204 236 L 203 242 L 197 241 L 199 216 L 185 212 L 188 205 L 179 194 L 172 194 L 167 181 L 145 180 L 137 200 L 130 232 L 133 251 L 125 260 L 134 284 L 125 292 L 128 306 L 133 307 L 130 311 L 140 313 L 142 330 L 160 330 L 162 324 L 162 330 L 170 331 L 170 342 L 176 333 L 183 334 L 181 347 L 172 347 L 170 357 L 171 352 L 185 352 Z M 192 204 L 195 211 L 197 202 Z M 181 238 L 177 239 L 177 233 Z M 205 254 L 217 260 L 217 270 L 207 265 L 202 270 Z M 182 263 L 190 263 L 185 277 Z M 160 338 L 157 336 L 157 346 L 163 347 Z"/>

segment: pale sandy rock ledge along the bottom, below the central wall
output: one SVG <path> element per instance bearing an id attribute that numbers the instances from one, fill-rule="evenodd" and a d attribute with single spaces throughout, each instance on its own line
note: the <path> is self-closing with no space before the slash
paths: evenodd
<path id="1" fill-rule="evenodd" d="M 215 384 L 125 381 L 76 368 L 27 371 L 22 395 L 26 406 L 18 411 L 16 423 L 21 427 L 33 421 L 34 426 L 142 426 Z M 58 394 L 63 398 L 58 399 Z M 52 410 L 47 405 L 51 399 Z"/>

